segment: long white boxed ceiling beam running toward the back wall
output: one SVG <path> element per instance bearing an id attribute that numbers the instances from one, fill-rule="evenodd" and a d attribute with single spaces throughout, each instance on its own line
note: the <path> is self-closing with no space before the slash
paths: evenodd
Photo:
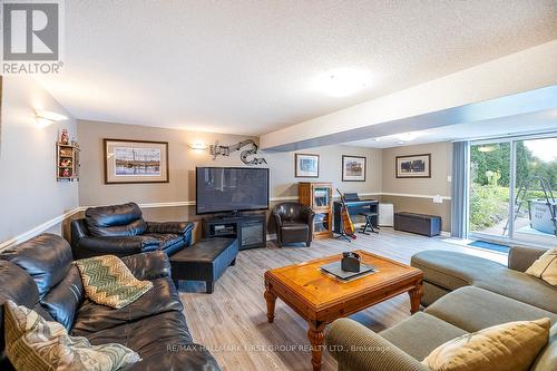
<path id="1" fill-rule="evenodd" d="M 427 129 L 555 108 L 555 87 L 544 99 L 521 95 L 557 85 L 557 40 L 539 45 L 381 98 L 261 136 L 267 150 L 293 150 L 332 143 Z M 517 96 L 518 97 L 518 96 Z M 553 99 L 553 100 L 551 100 Z M 490 102 L 486 102 L 491 100 Z M 479 102 L 482 102 L 478 105 Z M 534 105 L 532 105 L 534 104 Z M 539 106 L 539 107 L 538 107 Z M 434 113 L 433 116 L 428 114 Z M 379 124 L 383 124 L 373 128 Z"/>

